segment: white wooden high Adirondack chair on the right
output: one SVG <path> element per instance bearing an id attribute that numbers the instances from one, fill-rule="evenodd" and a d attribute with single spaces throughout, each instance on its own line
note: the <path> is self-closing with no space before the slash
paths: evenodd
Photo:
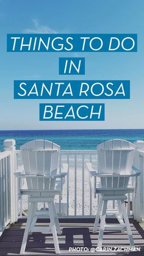
<path id="1" fill-rule="evenodd" d="M 93 169 L 92 163 L 87 163 L 90 174 L 90 186 L 92 191 L 99 194 L 98 211 L 95 218 L 93 233 L 98 229 L 98 222 L 101 215 L 99 228 L 98 247 L 103 243 L 104 229 L 119 229 L 121 232 L 127 229 L 130 246 L 134 246 L 132 232 L 129 225 L 128 214 L 124 200 L 126 194 L 137 189 L 137 176 L 139 170 L 132 166 L 134 161 L 135 145 L 121 139 L 113 139 L 98 145 L 98 170 Z M 93 181 L 94 177 L 94 181 Z M 96 185 L 99 180 L 98 186 Z M 135 187 L 129 186 L 129 178 L 135 177 Z M 115 214 L 120 224 L 106 225 L 107 201 L 117 200 L 118 210 Z M 102 214 L 101 214 L 102 210 Z M 124 218 L 124 221 L 123 221 Z"/>

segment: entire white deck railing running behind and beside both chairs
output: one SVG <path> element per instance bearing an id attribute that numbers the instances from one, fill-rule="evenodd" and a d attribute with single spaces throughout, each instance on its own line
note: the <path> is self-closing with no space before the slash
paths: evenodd
<path id="1" fill-rule="evenodd" d="M 4 141 L 4 151 L 0 153 L 0 232 L 9 222 L 15 222 L 18 214 L 22 216 L 22 211 L 26 210 L 26 196 L 21 200 L 20 183 L 16 179 L 14 172 L 21 166 L 20 150 L 15 150 L 15 141 Z M 98 199 L 92 196 L 88 183 L 88 172 L 86 162 L 97 164 L 96 150 L 61 150 L 59 159 L 59 170 L 62 163 L 68 163 L 68 175 L 63 189 L 63 199 L 59 196 L 56 199 L 57 211 L 68 217 L 93 217 L 96 214 Z M 132 194 L 128 195 L 128 215 L 134 216 L 137 221 L 144 221 L 144 151 L 137 150 L 134 161 L 135 167 L 142 171 L 138 179 L 137 198 Z M 133 181 L 132 181 L 133 182 Z M 22 196 L 23 198 L 24 196 Z M 132 209 L 131 209 L 132 204 Z M 43 205 L 45 208 L 46 205 Z M 115 208 L 115 202 L 109 204 L 110 208 Z"/>

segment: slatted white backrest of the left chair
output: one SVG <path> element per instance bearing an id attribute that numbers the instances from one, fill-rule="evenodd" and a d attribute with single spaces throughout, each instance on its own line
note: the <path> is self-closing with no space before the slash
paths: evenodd
<path id="1" fill-rule="evenodd" d="M 51 141 L 34 140 L 20 147 L 23 160 L 24 172 L 28 177 L 28 189 L 54 189 L 56 179 L 37 178 L 37 175 L 56 175 L 59 161 L 60 147 Z"/>

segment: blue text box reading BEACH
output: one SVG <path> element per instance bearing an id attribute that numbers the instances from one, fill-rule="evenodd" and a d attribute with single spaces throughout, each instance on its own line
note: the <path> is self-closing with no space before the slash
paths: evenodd
<path id="1" fill-rule="evenodd" d="M 40 103 L 40 121 L 104 121 L 104 104 Z"/>

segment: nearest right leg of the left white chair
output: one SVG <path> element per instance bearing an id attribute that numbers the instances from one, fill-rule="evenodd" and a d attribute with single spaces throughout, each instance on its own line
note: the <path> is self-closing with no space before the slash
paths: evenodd
<path id="1" fill-rule="evenodd" d="M 48 207 L 49 207 L 49 218 L 50 218 L 50 221 L 51 221 L 52 236 L 53 236 L 53 240 L 54 240 L 54 248 L 55 248 L 56 254 L 60 254 L 59 243 L 58 243 L 58 239 L 57 239 L 56 224 L 55 224 L 55 221 L 54 221 L 54 213 L 53 213 L 53 210 L 52 210 L 52 203 L 51 202 L 48 203 Z"/>

